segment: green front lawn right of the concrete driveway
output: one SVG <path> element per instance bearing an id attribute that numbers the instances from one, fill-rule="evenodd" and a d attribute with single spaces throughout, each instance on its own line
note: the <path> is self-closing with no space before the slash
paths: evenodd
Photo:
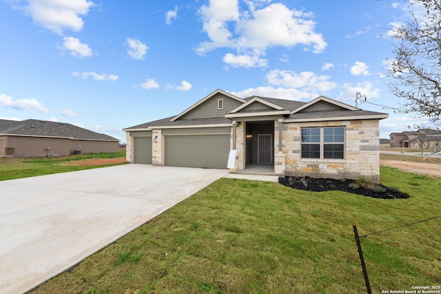
<path id="1" fill-rule="evenodd" d="M 439 178 L 381 176 L 411 198 L 220 179 L 33 293 L 365 293 L 352 224 L 367 235 L 441 214 Z M 440 285 L 440 228 L 437 218 L 364 238 L 373 293 Z"/>

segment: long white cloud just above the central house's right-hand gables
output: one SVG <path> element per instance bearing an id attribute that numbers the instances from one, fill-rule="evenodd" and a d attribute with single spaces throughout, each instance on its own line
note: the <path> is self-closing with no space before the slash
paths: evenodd
<path id="1" fill-rule="evenodd" d="M 317 76 L 314 72 L 300 72 L 297 74 L 290 70 L 271 70 L 266 78 L 271 85 L 320 93 L 337 87 L 336 83 L 329 81 L 330 76 Z"/>

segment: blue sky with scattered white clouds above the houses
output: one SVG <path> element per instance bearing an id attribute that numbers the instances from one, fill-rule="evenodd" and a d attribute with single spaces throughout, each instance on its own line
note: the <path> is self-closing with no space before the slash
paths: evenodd
<path id="1" fill-rule="evenodd" d="M 380 138 L 427 118 L 396 114 L 391 0 L 0 0 L 0 118 L 71 123 L 118 138 L 217 89 L 386 112 Z"/>

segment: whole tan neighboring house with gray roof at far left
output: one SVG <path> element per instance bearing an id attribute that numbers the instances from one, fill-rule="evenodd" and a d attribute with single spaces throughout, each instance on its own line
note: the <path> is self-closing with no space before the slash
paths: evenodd
<path id="1" fill-rule="evenodd" d="M 66 156 L 118 151 L 118 139 L 69 123 L 0 119 L 0 156 Z"/>

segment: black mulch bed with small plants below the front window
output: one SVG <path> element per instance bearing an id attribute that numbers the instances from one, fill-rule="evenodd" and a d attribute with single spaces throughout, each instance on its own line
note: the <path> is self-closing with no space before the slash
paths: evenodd
<path id="1" fill-rule="evenodd" d="M 357 182 L 356 180 L 335 180 L 332 178 L 309 178 L 305 177 L 307 181 L 307 187 L 302 183 L 300 178 L 289 177 L 278 178 L 278 182 L 284 186 L 291 187 L 293 189 L 305 190 L 305 191 L 345 191 L 349 193 L 359 194 L 362 196 L 368 196 L 372 198 L 382 198 L 382 199 L 405 199 L 409 198 L 407 193 L 398 191 L 395 187 L 386 187 L 384 185 L 378 185 L 384 188 L 384 191 L 374 191 L 373 189 L 365 189 L 363 187 L 358 187 L 353 189 L 353 187 L 348 187 L 351 182 Z"/>

